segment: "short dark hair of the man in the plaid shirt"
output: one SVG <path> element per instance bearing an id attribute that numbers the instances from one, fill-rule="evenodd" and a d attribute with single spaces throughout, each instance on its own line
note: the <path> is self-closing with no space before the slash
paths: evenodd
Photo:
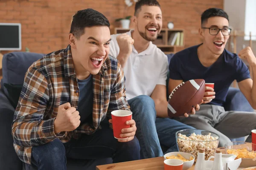
<path id="1" fill-rule="evenodd" d="M 91 8 L 83 9 L 73 15 L 70 33 L 79 39 L 84 34 L 84 28 L 93 26 L 110 27 L 110 23 L 102 13 Z"/>

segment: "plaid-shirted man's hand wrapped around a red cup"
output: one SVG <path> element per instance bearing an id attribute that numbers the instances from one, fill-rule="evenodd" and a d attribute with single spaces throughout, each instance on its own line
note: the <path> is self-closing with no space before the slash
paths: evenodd
<path id="1" fill-rule="evenodd" d="M 109 122 L 112 123 L 112 119 L 109 119 Z M 137 130 L 136 123 L 133 119 L 126 121 L 126 125 L 131 125 L 129 128 L 121 130 L 120 136 L 122 138 L 128 137 L 127 139 L 118 139 L 119 142 L 128 142 L 134 139 L 135 132 Z"/>

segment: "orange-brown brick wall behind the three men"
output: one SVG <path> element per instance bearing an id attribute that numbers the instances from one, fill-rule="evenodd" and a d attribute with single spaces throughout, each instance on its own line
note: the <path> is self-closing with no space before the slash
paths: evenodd
<path id="1" fill-rule="evenodd" d="M 210 7 L 223 8 L 223 0 L 159 0 L 163 28 L 173 21 L 185 29 L 185 47 L 198 44 L 201 13 Z M 124 0 L 0 0 L 0 23 L 21 23 L 22 51 L 49 53 L 65 48 L 72 15 L 81 9 L 102 12 L 113 28 L 117 17 L 134 13 L 134 5 L 125 8 Z M 8 51 L 2 51 L 6 53 Z"/>

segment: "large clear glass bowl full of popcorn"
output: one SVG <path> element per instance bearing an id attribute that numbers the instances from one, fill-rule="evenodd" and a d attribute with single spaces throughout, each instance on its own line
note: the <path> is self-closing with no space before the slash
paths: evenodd
<path id="1" fill-rule="evenodd" d="M 207 130 L 185 129 L 176 133 L 178 150 L 195 156 L 195 162 L 200 148 L 205 149 L 205 160 L 213 156 L 218 147 L 219 138 L 218 134 Z"/>

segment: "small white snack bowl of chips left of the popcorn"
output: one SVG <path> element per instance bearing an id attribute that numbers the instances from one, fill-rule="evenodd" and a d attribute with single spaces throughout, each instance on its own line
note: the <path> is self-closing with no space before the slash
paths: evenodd
<path id="1" fill-rule="evenodd" d="M 176 157 L 179 157 L 180 160 L 183 160 L 183 158 L 181 158 L 180 156 L 182 156 L 183 158 L 185 158 L 186 160 L 188 161 L 183 161 L 183 167 L 182 167 L 182 170 L 188 170 L 190 167 L 192 167 L 192 165 L 194 164 L 194 161 L 195 161 L 195 156 L 193 156 L 192 154 L 190 153 L 185 153 L 185 152 L 169 152 L 169 153 L 166 153 L 163 157 L 164 157 L 164 160 L 168 159 L 167 157 L 172 157 L 172 156 L 176 156 Z M 177 159 L 177 158 L 169 158 L 169 159 Z"/>

